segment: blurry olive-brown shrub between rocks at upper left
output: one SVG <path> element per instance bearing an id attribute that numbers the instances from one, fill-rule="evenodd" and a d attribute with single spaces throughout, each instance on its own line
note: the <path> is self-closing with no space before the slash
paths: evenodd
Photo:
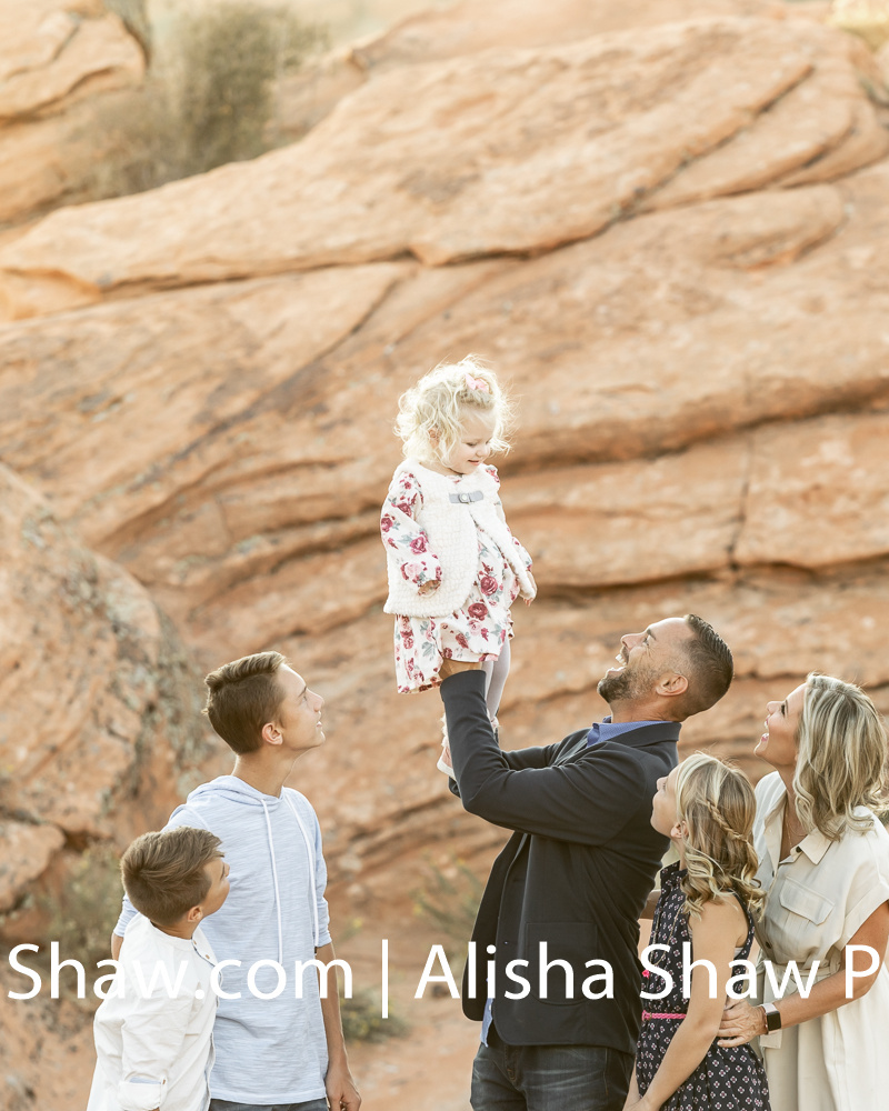
<path id="1" fill-rule="evenodd" d="M 289 8 L 228 0 L 183 12 L 164 42 L 144 86 L 98 114 L 104 151 L 87 173 L 90 199 L 142 192 L 277 146 L 277 84 L 326 34 Z"/>

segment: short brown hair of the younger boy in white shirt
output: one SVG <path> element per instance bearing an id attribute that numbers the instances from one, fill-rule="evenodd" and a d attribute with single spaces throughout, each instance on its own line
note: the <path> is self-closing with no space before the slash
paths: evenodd
<path id="1" fill-rule="evenodd" d="M 138 837 L 120 860 L 130 902 L 158 925 L 178 922 L 207 898 L 207 865 L 222 855 L 221 844 L 214 833 L 191 825 Z"/>

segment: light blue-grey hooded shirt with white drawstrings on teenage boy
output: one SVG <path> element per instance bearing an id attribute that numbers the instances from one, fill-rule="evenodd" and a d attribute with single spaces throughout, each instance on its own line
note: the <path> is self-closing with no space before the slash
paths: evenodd
<path id="1" fill-rule="evenodd" d="M 219 962 L 241 962 L 219 978 L 223 992 L 241 998 L 219 1000 L 213 1099 L 254 1104 L 323 1099 L 327 1041 L 318 977 L 311 967 L 301 977 L 294 970 L 294 962 L 312 960 L 316 947 L 330 941 L 327 869 L 311 804 L 290 788 L 274 798 L 220 775 L 192 791 L 166 829 L 179 825 L 216 833 L 231 868 L 228 899 L 201 923 Z M 124 899 L 116 933 L 123 934 L 133 913 Z M 268 963 L 256 970 L 252 992 L 248 987 L 257 961 L 274 961 L 287 974 L 274 999 L 258 998 L 278 987 L 278 972 Z"/>

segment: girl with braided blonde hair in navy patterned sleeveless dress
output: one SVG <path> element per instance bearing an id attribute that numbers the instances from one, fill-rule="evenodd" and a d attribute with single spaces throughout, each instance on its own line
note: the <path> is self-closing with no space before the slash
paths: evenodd
<path id="1" fill-rule="evenodd" d="M 749 1045 L 716 1042 L 727 988 L 740 977 L 753 941 L 752 913 L 762 905 L 752 844 L 756 799 L 747 777 L 696 752 L 658 781 L 651 824 L 670 838 L 679 861 L 661 872 L 645 990 L 671 989 L 643 1000 L 636 1071 L 625 1111 L 769 1111 L 766 1073 Z M 709 961 L 691 973 L 682 993 L 682 947 L 689 960 Z M 657 970 L 668 975 L 662 975 Z M 749 983 L 736 979 L 732 989 Z M 712 992 L 713 998 L 710 998 Z M 743 1052 L 741 1052 L 743 1051 Z"/>

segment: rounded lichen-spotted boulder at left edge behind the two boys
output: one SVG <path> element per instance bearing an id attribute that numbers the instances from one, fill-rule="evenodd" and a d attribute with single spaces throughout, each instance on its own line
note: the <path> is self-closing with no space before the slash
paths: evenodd
<path id="1" fill-rule="evenodd" d="M 129 574 L 79 546 L 0 467 L 0 912 L 66 839 L 124 843 L 204 754 L 174 633 Z"/>

